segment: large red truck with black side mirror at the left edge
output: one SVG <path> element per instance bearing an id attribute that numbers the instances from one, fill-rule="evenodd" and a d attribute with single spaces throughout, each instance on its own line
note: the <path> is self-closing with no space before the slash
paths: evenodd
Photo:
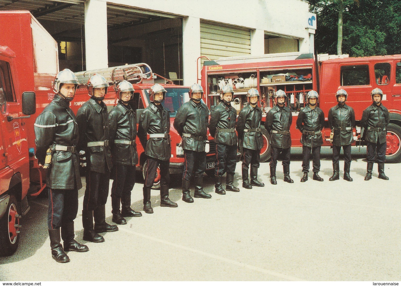
<path id="1" fill-rule="evenodd" d="M 26 196 L 44 188 L 34 159 L 35 93 L 47 101 L 58 72 L 57 43 L 28 11 L 0 11 L 0 256 L 19 241 Z M 47 103 L 38 100 L 36 114 Z"/>

